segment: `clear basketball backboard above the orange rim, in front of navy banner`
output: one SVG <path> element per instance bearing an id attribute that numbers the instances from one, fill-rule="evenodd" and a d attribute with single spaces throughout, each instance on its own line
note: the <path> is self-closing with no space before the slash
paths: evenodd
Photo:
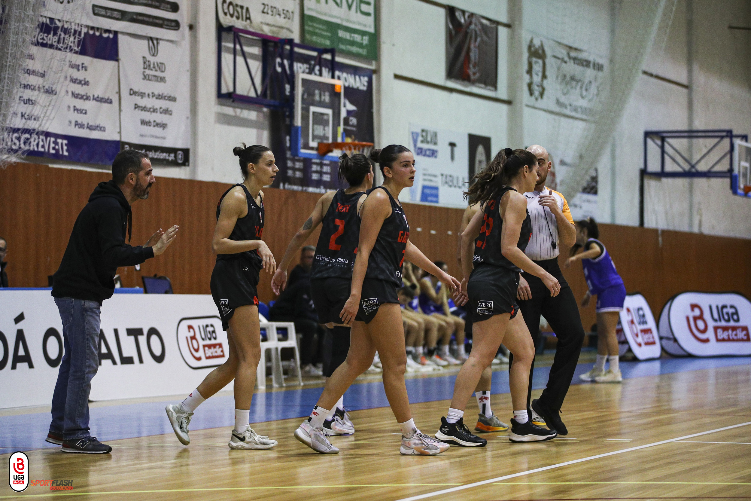
<path id="1" fill-rule="evenodd" d="M 344 86 L 341 80 L 298 73 L 295 81 L 291 151 L 303 158 L 338 161 L 318 155 L 318 143 L 344 140 Z"/>

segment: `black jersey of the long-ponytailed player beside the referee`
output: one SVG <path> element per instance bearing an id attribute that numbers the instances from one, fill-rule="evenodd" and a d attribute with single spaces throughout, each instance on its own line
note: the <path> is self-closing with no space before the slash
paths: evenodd
<path id="1" fill-rule="evenodd" d="M 478 264 L 493 264 L 494 266 L 521 271 L 516 264 L 508 261 L 501 254 L 501 228 L 503 227 L 500 214 L 501 198 L 511 190 L 516 192 L 511 186 L 505 186 L 501 189 L 497 198 L 487 201 L 487 204 L 485 204 L 482 228 L 480 228 L 480 236 L 475 240 L 475 257 L 472 258 L 475 266 Z M 532 219 L 529 218 L 529 211 L 526 211 L 526 219 L 521 224 L 519 242 L 517 243 L 517 247 L 522 252 L 526 249 L 530 237 L 532 237 Z"/>

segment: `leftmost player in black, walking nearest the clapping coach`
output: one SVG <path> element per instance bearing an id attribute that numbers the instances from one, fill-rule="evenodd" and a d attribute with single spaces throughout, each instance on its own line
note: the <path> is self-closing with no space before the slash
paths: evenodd
<path id="1" fill-rule="evenodd" d="M 233 449 L 267 449 L 276 440 L 255 433 L 248 424 L 255 389 L 255 370 L 261 359 L 261 327 L 258 321 L 258 273 L 274 273 L 276 261 L 264 232 L 264 193 L 279 168 L 267 146 L 237 146 L 243 183 L 228 189 L 216 207 L 216 229 L 211 248 L 216 264 L 211 274 L 211 295 L 222 327 L 227 331 L 229 354 L 179 405 L 168 405 L 167 418 L 183 445 L 190 443 L 188 424 L 204 400 L 234 379 L 235 426 L 229 442 Z"/>

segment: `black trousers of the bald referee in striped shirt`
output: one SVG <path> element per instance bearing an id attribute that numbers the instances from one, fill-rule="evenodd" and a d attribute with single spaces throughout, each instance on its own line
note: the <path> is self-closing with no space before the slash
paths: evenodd
<path id="1" fill-rule="evenodd" d="M 558 266 L 558 259 L 535 261 L 535 263 L 558 279 L 561 291 L 556 297 L 550 297 L 550 291 L 541 279 L 529 273 L 523 273 L 522 276 L 529 283 L 529 290 L 532 291 L 532 299 L 519 301 L 519 309 L 524 316 L 524 322 L 526 327 L 529 328 L 535 346 L 540 339 L 540 315 L 545 317 L 558 338 L 556 355 L 553 358 L 553 366 L 550 367 L 547 386 L 542 391 L 539 400 L 542 406 L 559 410 L 563 405 L 563 399 L 566 398 L 566 392 L 569 391 L 576 364 L 579 361 L 581 345 L 584 343 L 584 328 L 581 326 L 579 306 L 574 297 L 574 292 L 566 279 L 563 278 Z M 511 367 L 510 363 L 509 367 Z M 532 367 L 529 369 L 529 390 L 526 394 L 528 409 L 532 395 L 532 373 L 534 371 L 535 361 L 533 360 Z"/>

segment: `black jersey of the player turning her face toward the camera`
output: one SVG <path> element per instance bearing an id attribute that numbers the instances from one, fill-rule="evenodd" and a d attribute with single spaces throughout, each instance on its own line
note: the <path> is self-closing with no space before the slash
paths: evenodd
<path id="1" fill-rule="evenodd" d="M 404 252 L 409 238 L 409 223 L 404 210 L 397 204 L 388 189 L 378 186 L 370 190 L 383 189 L 391 201 L 391 216 L 388 216 L 381 226 L 375 245 L 368 258 L 368 269 L 365 278 L 388 280 L 397 287 L 402 286 L 402 264 Z"/>

